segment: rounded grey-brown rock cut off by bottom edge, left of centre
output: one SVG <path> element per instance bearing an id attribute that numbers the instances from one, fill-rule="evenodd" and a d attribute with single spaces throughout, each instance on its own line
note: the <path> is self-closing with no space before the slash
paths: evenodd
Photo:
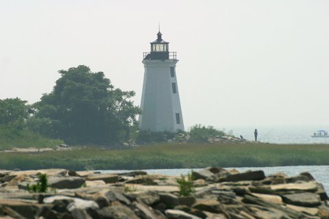
<path id="1" fill-rule="evenodd" d="M 104 207 L 98 214 L 103 219 L 138 219 L 136 214 L 124 205 Z"/>

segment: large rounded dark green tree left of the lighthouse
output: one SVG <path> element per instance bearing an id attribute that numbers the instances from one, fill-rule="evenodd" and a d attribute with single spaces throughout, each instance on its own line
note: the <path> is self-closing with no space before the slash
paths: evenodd
<path id="1" fill-rule="evenodd" d="M 130 101 L 133 91 L 115 89 L 104 73 L 92 73 L 87 66 L 59 73 L 53 91 L 34 104 L 34 131 L 48 126 L 47 136 L 69 144 L 106 145 L 129 136 L 140 113 Z"/>

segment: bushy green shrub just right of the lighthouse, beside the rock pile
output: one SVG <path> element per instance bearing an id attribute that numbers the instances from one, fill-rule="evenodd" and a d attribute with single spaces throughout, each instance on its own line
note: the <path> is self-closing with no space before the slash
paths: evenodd
<path id="1" fill-rule="evenodd" d="M 191 136 L 191 142 L 207 142 L 208 138 L 214 136 L 224 136 L 225 133 L 223 131 L 219 131 L 214 129 L 212 126 L 204 126 L 204 125 L 194 125 L 190 128 L 189 134 Z"/>

